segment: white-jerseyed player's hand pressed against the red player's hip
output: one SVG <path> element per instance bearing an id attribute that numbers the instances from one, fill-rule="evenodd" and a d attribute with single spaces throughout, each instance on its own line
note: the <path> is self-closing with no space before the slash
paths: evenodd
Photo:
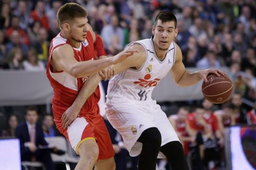
<path id="1" fill-rule="evenodd" d="M 77 110 L 73 105 L 71 105 L 63 114 L 62 114 L 62 126 L 66 129 L 70 124 L 78 117 L 80 111 Z"/>

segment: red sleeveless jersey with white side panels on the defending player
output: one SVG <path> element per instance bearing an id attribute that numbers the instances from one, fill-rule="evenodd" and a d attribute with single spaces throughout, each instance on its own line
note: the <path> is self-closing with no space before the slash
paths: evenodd
<path id="1" fill-rule="evenodd" d="M 47 78 L 53 87 L 54 96 L 52 99 L 52 110 L 54 113 L 54 121 L 61 121 L 62 113 L 68 109 L 74 102 L 79 90 L 83 86 L 87 77 L 75 78 L 66 72 L 53 72 L 51 66 L 51 56 L 54 49 L 58 46 L 69 44 L 67 39 L 62 37 L 59 33 L 51 42 L 49 50 L 49 58 L 47 63 Z M 74 48 L 74 58 L 78 61 L 86 61 L 96 59 L 93 47 L 93 37 L 91 33 L 87 32 L 87 37 L 84 42 L 80 43 L 79 48 Z M 85 114 L 97 114 L 99 111 L 98 102 L 100 99 L 99 87 L 93 92 L 93 94 L 85 102 L 79 115 Z"/>

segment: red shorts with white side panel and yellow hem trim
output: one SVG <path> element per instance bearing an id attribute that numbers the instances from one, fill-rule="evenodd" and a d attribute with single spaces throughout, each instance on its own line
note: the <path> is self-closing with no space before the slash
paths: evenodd
<path id="1" fill-rule="evenodd" d="M 54 121 L 77 153 L 82 142 L 95 139 L 99 146 L 98 159 L 108 159 L 115 155 L 108 129 L 100 113 L 79 115 L 67 129 L 63 129 L 61 120 L 56 120 L 54 117 Z"/>

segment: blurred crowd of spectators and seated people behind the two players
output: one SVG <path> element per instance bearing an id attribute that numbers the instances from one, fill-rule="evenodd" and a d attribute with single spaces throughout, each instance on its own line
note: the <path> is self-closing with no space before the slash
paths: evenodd
<path id="1" fill-rule="evenodd" d="M 150 38 L 155 15 L 170 10 L 178 20 L 175 41 L 186 67 L 229 68 L 234 85 L 229 102 L 160 103 L 184 144 L 192 170 L 224 167 L 224 127 L 256 124 L 256 0 L 1 0 L 0 71 L 46 69 L 51 39 L 60 31 L 56 14 L 66 2 L 85 7 L 109 57 L 132 41 Z M 13 136 L 17 117 L 11 107 L 0 111 L 8 118 L 1 135 Z M 159 166 L 168 169 L 165 160 Z"/>

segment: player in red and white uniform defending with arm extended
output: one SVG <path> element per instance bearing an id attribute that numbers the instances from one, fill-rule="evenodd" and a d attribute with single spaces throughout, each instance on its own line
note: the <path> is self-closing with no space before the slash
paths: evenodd
<path id="1" fill-rule="evenodd" d="M 78 114 L 63 113 L 72 105 L 88 76 L 111 76 L 112 69 L 104 73 L 101 70 L 122 62 L 136 50 L 128 49 L 112 58 L 96 60 L 94 50 L 98 56 L 105 56 L 105 51 L 101 38 L 87 23 L 85 9 L 76 3 L 67 3 L 59 9 L 57 19 L 61 32 L 51 42 L 47 64 L 47 77 L 54 90 L 54 122 L 80 155 L 75 170 L 92 170 L 94 165 L 97 170 L 114 170 L 111 140 L 97 104 L 99 87 L 96 85 L 81 111 L 79 107 Z"/>

